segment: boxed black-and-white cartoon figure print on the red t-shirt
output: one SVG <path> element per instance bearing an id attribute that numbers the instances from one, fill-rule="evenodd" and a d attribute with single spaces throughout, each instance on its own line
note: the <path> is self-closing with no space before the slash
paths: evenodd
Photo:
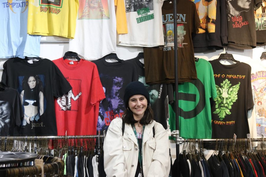
<path id="1" fill-rule="evenodd" d="M 78 111 L 79 97 L 82 94 L 80 92 L 81 80 L 69 79 L 69 77 L 66 77 L 66 79 L 72 86 L 72 89 L 67 94 L 57 98 L 56 102 L 59 105 L 60 111 Z"/>

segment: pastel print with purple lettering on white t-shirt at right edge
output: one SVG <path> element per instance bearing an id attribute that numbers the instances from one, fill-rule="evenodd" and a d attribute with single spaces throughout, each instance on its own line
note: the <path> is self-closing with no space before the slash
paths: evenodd
<path id="1" fill-rule="evenodd" d="M 254 96 L 257 136 L 266 135 L 266 73 L 257 71 L 251 74 Z"/>

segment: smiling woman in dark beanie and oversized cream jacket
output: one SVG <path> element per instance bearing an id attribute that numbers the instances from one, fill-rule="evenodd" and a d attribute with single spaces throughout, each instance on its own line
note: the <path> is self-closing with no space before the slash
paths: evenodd
<path id="1" fill-rule="evenodd" d="M 168 135 L 153 120 L 149 92 L 141 82 L 131 82 L 126 86 L 124 103 L 127 109 L 122 119 L 111 122 L 103 144 L 106 176 L 168 177 Z"/>

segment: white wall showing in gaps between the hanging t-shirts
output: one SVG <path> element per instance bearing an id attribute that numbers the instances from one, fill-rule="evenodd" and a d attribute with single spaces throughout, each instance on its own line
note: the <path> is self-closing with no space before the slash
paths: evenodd
<path id="1" fill-rule="evenodd" d="M 67 40 L 62 37 L 42 37 L 41 40 Z M 48 58 L 50 60 L 55 60 L 64 56 L 64 53 L 68 51 L 68 43 L 41 43 L 40 45 L 40 57 Z M 236 50 L 228 49 L 227 52 L 233 54 L 236 60 L 241 62 L 247 62 L 248 60 L 260 60 L 262 52 L 265 51 L 265 46 L 256 47 L 249 50 Z M 122 60 L 128 60 L 135 58 L 139 52 L 143 52 L 142 47 L 122 47 L 117 46 L 116 54 Z M 206 60 L 214 60 L 219 57 L 220 53 L 224 53 L 224 50 L 218 50 L 215 52 L 209 53 L 195 53 L 195 57 L 204 58 Z M 3 67 L 4 62 L 7 59 L 0 59 L 0 67 Z M 226 63 L 225 63 L 226 64 Z M 0 77 L 2 76 L 2 70 L 0 70 Z M 170 142 L 171 154 L 173 161 L 176 158 L 176 145 L 174 141 Z M 180 151 L 182 150 L 183 145 L 180 145 Z M 213 151 L 205 150 L 205 154 L 208 157 L 213 153 Z"/>

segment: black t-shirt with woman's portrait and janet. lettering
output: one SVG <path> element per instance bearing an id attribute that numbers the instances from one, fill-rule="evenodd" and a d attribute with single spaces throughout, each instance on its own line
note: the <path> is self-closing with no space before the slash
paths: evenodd
<path id="1" fill-rule="evenodd" d="M 72 87 L 51 60 L 9 59 L 1 83 L 20 93 L 24 118 L 16 135 L 57 135 L 54 97 Z"/>

